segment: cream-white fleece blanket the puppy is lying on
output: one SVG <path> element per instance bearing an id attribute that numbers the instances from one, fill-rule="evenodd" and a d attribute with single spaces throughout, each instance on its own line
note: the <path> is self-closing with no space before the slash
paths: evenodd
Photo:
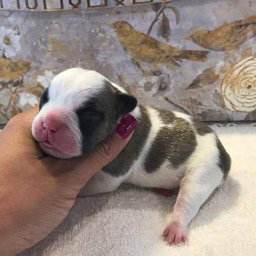
<path id="1" fill-rule="evenodd" d="M 233 164 L 190 223 L 186 245 L 169 246 L 161 238 L 176 196 L 126 185 L 78 198 L 61 225 L 20 256 L 256 255 L 256 126 L 213 127 Z"/>

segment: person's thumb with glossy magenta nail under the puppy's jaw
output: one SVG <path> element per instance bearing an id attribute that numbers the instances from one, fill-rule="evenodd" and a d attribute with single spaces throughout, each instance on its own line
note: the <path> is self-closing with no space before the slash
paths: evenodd
<path id="1" fill-rule="evenodd" d="M 133 135 L 136 124 L 135 117 L 128 114 L 121 120 L 117 131 L 99 143 L 88 155 L 73 159 L 45 157 L 42 161 L 46 161 L 48 166 L 55 166 L 54 177 L 64 181 L 65 186 L 70 184 L 78 194 L 97 171 L 113 161 L 124 149 Z"/>

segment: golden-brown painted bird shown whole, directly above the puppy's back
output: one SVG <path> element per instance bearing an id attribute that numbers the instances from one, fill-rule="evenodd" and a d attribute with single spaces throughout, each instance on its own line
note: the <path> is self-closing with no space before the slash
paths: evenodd
<path id="1" fill-rule="evenodd" d="M 161 43 L 151 36 L 135 30 L 126 21 L 111 23 L 124 51 L 137 62 L 150 64 L 173 63 L 180 66 L 177 61 L 182 59 L 191 61 L 206 61 L 209 51 L 180 50 L 169 44 Z"/>

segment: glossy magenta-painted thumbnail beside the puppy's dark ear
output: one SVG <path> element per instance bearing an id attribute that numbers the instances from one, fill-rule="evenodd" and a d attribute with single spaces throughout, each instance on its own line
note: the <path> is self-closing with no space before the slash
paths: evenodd
<path id="1" fill-rule="evenodd" d="M 126 114 L 117 126 L 116 132 L 125 139 L 134 130 L 136 124 L 136 118 L 131 114 Z"/>

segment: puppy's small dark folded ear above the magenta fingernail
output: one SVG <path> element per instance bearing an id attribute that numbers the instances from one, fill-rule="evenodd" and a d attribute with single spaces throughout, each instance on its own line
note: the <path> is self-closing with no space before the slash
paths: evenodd
<path id="1" fill-rule="evenodd" d="M 127 93 L 117 94 L 118 114 L 123 116 L 131 112 L 137 106 L 137 99 Z"/>

